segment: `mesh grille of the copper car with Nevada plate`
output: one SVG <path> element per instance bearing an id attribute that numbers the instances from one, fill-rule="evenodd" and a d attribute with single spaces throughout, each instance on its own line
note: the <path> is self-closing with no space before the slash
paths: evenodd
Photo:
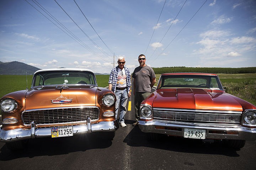
<path id="1" fill-rule="evenodd" d="M 37 125 L 86 122 L 88 117 L 92 121 L 98 120 L 99 109 L 97 107 L 53 108 L 22 113 L 22 120 L 25 125 L 30 125 L 31 121 Z"/>

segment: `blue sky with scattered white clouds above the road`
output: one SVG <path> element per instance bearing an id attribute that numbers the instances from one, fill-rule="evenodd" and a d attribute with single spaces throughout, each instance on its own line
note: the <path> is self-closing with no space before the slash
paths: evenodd
<path id="1" fill-rule="evenodd" d="M 0 16 L 1 62 L 110 73 L 123 56 L 133 72 L 145 54 L 151 67 L 256 66 L 256 0 L 1 0 Z"/>

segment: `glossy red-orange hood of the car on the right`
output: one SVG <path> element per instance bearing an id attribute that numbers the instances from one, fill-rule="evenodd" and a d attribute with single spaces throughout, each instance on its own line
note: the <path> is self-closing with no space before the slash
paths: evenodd
<path id="1" fill-rule="evenodd" d="M 242 111 L 242 106 L 235 100 L 235 96 L 221 90 L 165 89 L 157 90 L 151 97 L 154 98 L 151 99 L 153 107 Z"/>

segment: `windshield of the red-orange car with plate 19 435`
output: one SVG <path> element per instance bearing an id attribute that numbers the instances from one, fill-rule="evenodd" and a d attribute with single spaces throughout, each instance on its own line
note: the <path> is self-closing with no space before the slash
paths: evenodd
<path id="1" fill-rule="evenodd" d="M 159 79 L 158 89 L 169 87 L 209 88 L 223 90 L 218 76 L 161 75 Z"/>

